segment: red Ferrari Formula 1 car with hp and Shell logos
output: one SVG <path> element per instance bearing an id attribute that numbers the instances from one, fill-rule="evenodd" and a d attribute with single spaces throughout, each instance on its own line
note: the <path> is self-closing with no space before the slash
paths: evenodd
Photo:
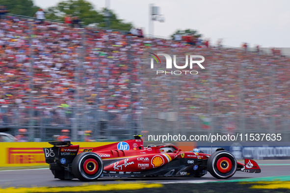
<path id="1" fill-rule="evenodd" d="M 258 164 L 245 159 L 237 162 L 235 156 L 223 149 L 211 155 L 200 149 L 182 151 L 172 144 L 143 146 L 140 135 L 133 140 L 113 143 L 79 153 L 79 145 L 69 141 L 49 142 L 53 147 L 43 148 L 46 163 L 54 178 L 93 181 L 100 177 L 201 177 L 208 171 L 218 179 L 227 179 L 236 171 L 260 173 Z"/>

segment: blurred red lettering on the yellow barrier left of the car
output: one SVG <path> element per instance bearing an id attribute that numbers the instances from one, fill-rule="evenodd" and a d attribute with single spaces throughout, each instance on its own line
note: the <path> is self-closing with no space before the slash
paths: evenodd
<path id="1" fill-rule="evenodd" d="M 42 148 L 38 147 L 19 147 L 7 148 L 7 164 L 39 164 L 45 163 Z"/>

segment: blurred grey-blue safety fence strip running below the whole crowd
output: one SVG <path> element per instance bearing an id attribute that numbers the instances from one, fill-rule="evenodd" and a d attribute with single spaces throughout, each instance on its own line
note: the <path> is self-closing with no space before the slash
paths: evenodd
<path id="1" fill-rule="evenodd" d="M 281 142 L 290 140 L 290 119 L 270 116 L 192 115 L 178 112 L 117 111 L 88 106 L 0 106 L 0 128 L 16 136 L 27 129 L 28 141 L 47 142 L 68 129 L 73 141 L 84 141 L 84 132 L 91 131 L 94 141 L 120 141 L 134 134 L 148 135 L 245 135 L 282 134 Z M 245 140 L 245 138 L 243 138 Z M 238 141 L 244 141 L 240 140 Z M 259 141 L 267 141 L 266 138 Z"/>

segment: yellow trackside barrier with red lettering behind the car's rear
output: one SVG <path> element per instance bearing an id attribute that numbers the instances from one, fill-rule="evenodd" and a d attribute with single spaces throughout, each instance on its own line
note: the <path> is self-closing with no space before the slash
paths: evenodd
<path id="1" fill-rule="evenodd" d="M 76 142 L 79 152 L 90 147 L 111 144 L 111 142 Z M 16 166 L 47 166 L 43 153 L 43 147 L 52 147 L 47 142 L 14 142 L 0 143 L 0 167 Z"/>

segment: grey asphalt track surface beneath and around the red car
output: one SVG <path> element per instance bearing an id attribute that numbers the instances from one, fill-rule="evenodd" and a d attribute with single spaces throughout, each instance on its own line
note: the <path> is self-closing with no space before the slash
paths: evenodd
<path id="1" fill-rule="evenodd" d="M 240 180 L 249 178 L 289 176 L 290 160 L 258 160 L 261 173 L 236 172 L 229 180 Z M 119 184 L 119 183 L 202 183 L 221 181 L 211 176 L 210 173 L 201 178 L 100 178 L 94 182 L 81 182 L 78 179 L 59 180 L 54 179 L 50 169 L 27 169 L 0 171 L 0 187 L 64 187 L 95 184 Z M 223 180 L 226 181 L 226 180 Z"/>

